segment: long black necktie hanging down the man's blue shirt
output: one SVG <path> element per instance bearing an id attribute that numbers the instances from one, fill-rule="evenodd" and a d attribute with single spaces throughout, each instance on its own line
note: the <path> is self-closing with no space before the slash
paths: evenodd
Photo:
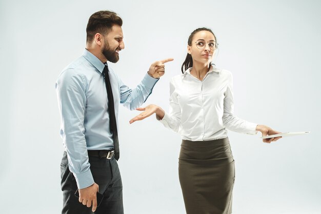
<path id="1" fill-rule="evenodd" d="M 111 90 L 110 80 L 109 80 L 109 70 L 108 65 L 105 64 L 103 70 L 103 75 L 106 83 L 107 98 L 108 98 L 108 113 L 109 113 L 109 128 L 110 132 L 113 134 L 114 140 L 114 149 L 115 149 L 115 159 L 119 159 L 119 144 L 118 144 L 118 132 L 117 132 L 117 123 L 115 116 L 115 106 L 114 106 L 114 97 L 113 91 Z"/>

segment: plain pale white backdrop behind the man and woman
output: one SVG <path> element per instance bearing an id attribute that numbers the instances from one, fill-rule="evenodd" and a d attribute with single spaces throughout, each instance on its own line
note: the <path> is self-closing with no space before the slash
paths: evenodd
<path id="1" fill-rule="evenodd" d="M 168 110 L 189 34 L 209 27 L 215 64 L 234 76 L 235 114 L 279 131 L 311 131 L 273 144 L 229 132 L 236 165 L 233 213 L 320 213 L 321 2 L 0 1 L 1 213 L 59 213 L 63 147 L 54 83 L 83 52 L 89 16 L 113 10 L 125 49 L 112 67 L 131 87 L 150 64 L 173 57 L 146 102 Z M 119 109 L 125 213 L 185 213 L 180 137 L 152 116 Z"/>

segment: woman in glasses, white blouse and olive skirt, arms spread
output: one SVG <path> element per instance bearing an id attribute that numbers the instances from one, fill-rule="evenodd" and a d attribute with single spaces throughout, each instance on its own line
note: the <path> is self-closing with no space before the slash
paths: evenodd
<path id="1" fill-rule="evenodd" d="M 130 121 L 156 113 L 157 120 L 182 136 L 178 172 L 187 214 L 232 212 L 234 160 L 226 128 L 249 134 L 260 131 L 264 136 L 279 133 L 233 114 L 232 74 L 211 64 L 216 48 L 210 29 L 194 30 L 188 38 L 183 74 L 170 82 L 169 113 L 148 105 L 138 108 L 143 112 Z"/>

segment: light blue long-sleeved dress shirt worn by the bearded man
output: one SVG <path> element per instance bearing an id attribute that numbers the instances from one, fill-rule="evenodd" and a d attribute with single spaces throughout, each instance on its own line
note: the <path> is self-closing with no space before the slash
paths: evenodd
<path id="1" fill-rule="evenodd" d="M 55 87 L 61 113 L 63 145 L 68 154 L 69 169 L 79 189 L 94 183 L 87 150 L 113 148 L 109 130 L 108 99 L 102 75 L 104 63 L 85 49 L 83 55 L 59 74 Z M 109 67 L 118 125 L 119 103 L 134 110 L 151 94 L 158 79 L 146 74 L 142 82 L 130 89 Z"/>

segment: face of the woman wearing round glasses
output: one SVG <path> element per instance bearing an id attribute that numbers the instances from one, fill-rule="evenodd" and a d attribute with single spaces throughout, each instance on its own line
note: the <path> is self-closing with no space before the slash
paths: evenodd
<path id="1" fill-rule="evenodd" d="M 212 62 L 215 49 L 215 37 L 207 30 L 202 30 L 195 33 L 192 40 L 192 45 L 187 46 L 188 53 L 192 55 L 193 64 L 201 63 L 205 66 L 208 66 Z"/>

